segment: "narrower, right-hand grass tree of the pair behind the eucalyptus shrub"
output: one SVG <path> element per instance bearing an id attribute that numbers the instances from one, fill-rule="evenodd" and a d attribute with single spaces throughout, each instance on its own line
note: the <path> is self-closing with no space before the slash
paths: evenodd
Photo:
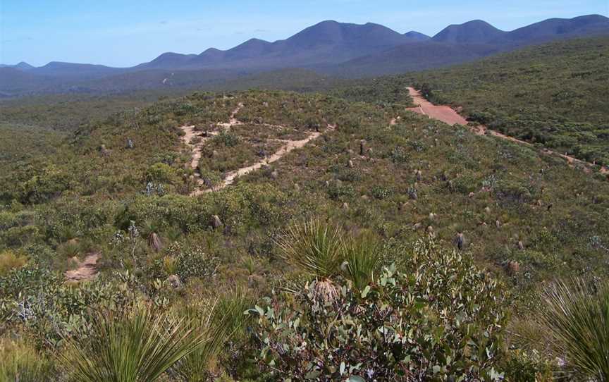
<path id="1" fill-rule="evenodd" d="M 381 254 L 376 238 L 371 234 L 350 237 L 344 245 L 345 262 L 343 273 L 357 290 L 366 288 L 374 281 L 374 276 L 381 269 Z"/>

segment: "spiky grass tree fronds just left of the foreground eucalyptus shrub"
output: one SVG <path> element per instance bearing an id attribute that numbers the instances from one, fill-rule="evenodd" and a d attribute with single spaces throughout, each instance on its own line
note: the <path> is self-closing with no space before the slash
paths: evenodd
<path id="1" fill-rule="evenodd" d="M 214 368 L 223 347 L 232 340 L 244 326 L 248 316 L 245 311 L 252 306 L 252 300 L 243 290 L 222 297 L 212 306 L 195 305 L 187 307 L 183 314 L 193 331 L 202 333 L 205 342 L 194 352 L 180 360 L 175 371 L 185 381 L 204 382 L 211 380 Z"/>

